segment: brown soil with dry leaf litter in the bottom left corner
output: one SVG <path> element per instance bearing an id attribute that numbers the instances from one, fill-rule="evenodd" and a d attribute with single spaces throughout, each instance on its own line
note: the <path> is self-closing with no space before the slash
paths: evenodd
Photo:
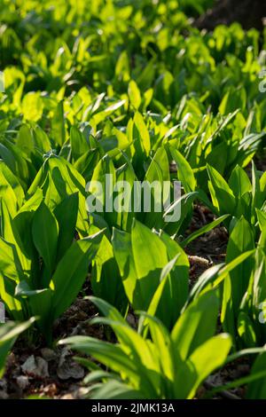
<path id="1" fill-rule="evenodd" d="M 88 322 L 97 314 L 98 311 L 90 301 L 78 297 L 56 322 L 53 332 L 55 342 L 75 334 L 105 339 L 104 328 L 91 326 Z M 43 341 L 37 345 L 25 346 L 25 341 L 20 339 L 8 358 L 4 378 L 0 380 L 0 399 L 29 396 L 63 399 L 82 397 L 84 388 L 81 382 L 86 371 L 75 363 L 73 356 L 74 353 L 66 347 L 48 349 Z M 47 374 L 44 372 L 38 375 L 36 371 L 23 370 L 27 359 L 31 357 L 36 361 L 41 358 L 42 364 L 47 367 Z"/>

